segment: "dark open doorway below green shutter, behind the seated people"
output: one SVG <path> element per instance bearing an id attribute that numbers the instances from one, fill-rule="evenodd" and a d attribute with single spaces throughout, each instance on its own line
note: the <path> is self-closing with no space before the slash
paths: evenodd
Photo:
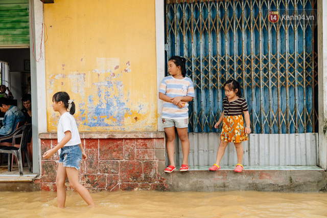
<path id="1" fill-rule="evenodd" d="M 31 122 L 31 70 L 30 70 L 30 49 L 29 48 L 6 48 L 0 49 L 0 97 L 6 97 L 10 105 L 17 106 L 24 115 L 25 121 Z M 3 89 L 3 88 L 6 89 Z M 29 100 L 27 100 L 29 99 Z M 23 103 L 24 101 L 24 103 Z M 29 102 L 29 105 L 26 103 Z M 29 113 L 28 113 L 29 112 Z M 26 116 L 25 116 L 26 115 Z M 0 121 L 4 119 L 5 113 L 0 113 Z M 16 122 L 16 121 L 15 121 Z M 1 124 L 1 123 L 0 123 Z M 29 157 L 32 159 L 32 133 L 29 137 Z M 22 154 L 24 155 L 24 154 Z M 23 162 L 27 162 L 23 158 Z M 12 172 L 8 172 L 8 155 L 1 156 L 0 174 L 15 175 L 18 172 L 18 163 L 15 160 Z M 28 173 L 28 164 L 24 171 Z M 17 173 L 16 173 L 17 174 Z"/>

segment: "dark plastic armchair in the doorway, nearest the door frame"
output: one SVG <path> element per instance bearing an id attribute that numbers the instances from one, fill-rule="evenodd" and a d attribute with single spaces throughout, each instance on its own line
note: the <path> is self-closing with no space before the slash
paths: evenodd
<path id="1" fill-rule="evenodd" d="M 28 141 L 28 135 L 29 131 L 31 129 L 32 124 L 26 124 L 24 126 L 21 126 L 15 130 L 12 134 L 6 137 L 0 138 L 0 142 L 5 139 L 12 139 L 12 146 L 0 146 L 0 153 L 8 154 L 8 171 L 11 171 L 11 160 L 10 160 L 10 154 L 17 157 L 18 160 L 18 170 L 19 175 L 23 175 L 23 168 L 22 168 L 22 152 L 24 151 L 27 159 L 27 163 L 29 165 L 29 171 L 32 172 L 32 166 L 31 161 L 28 155 L 27 150 L 27 141 Z M 15 147 L 15 139 L 20 139 L 19 147 Z"/>

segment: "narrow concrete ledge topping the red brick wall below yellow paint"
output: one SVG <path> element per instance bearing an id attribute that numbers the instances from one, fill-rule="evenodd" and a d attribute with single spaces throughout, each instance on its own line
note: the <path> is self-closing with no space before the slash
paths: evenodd
<path id="1" fill-rule="evenodd" d="M 165 132 L 81 132 L 81 139 L 158 139 Z M 39 139 L 57 139 L 57 133 L 40 133 Z"/>

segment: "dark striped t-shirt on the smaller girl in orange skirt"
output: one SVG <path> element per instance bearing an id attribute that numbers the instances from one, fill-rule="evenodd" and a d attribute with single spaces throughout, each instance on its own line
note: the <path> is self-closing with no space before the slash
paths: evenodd
<path id="1" fill-rule="evenodd" d="M 235 101 L 228 102 L 227 96 L 223 99 L 223 108 L 225 116 L 242 115 L 243 111 L 248 111 L 245 98 L 240 97 Z"/>

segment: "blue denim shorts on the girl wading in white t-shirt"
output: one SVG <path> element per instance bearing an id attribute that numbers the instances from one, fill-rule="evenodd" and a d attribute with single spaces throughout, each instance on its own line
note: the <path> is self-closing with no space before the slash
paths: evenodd
<path id="1" fill-rule="evenodd" d="M 79 145 L 65 146 L 60 148 L 59 163 L 64 167 L 80 168 L 82 150 Z"/>

